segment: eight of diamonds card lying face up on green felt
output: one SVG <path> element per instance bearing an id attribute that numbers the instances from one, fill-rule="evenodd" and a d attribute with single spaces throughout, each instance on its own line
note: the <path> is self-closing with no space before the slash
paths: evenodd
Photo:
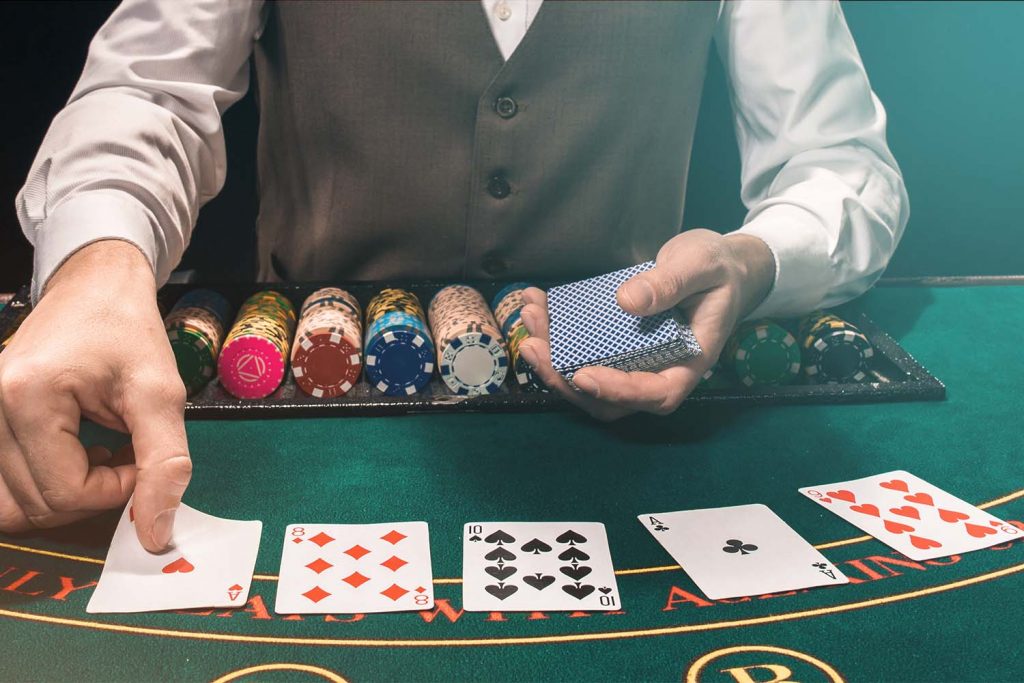
<path id="1" fill-rule="evenodd" d="M 427 523 L 291 524 L 274 611 L 352 614 L 434 606 Z"/>

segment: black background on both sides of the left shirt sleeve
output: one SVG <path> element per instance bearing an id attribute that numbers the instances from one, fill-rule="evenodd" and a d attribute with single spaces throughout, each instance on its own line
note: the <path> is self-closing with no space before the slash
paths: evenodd
<path id="1" fill-rule="evenodd" d="M 0 292 L 32 278 L 32 245 L 22 234 L 14 198 L 50 121 L 78 82 L 89 41 L 117 5 L 109 0 L 0 1 L 0 86 L 8 93 L 7 105 L 0 106 L 0 130 L 8 131 L 0 157 Z M 250 91 L 224 115 L 227 179 L 203 208 L 181 267 L 225 281 L 253 276 L 256 128 Z"/>

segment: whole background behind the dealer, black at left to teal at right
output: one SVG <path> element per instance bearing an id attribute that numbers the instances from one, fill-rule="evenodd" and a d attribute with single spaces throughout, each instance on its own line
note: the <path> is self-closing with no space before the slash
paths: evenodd
<path id="1" fill-rule="evenodd" d="M 18 227 L 14 197 L 78 79 L 90 38 L 116 6 L 0 2 L 6 95 L 0 108 L 0 291 L 31 276 L 32 249 Z M 843 9 L 888 110 L 890 144 L 910 193 L 910 224 L 887 274 L 1024 273 L 1024 2 L 844 2 Z M 251 276 L 256 126 L 251 95 L 225 115 L 226 185 L 203 209 L 184 267 L 217 280 Z M 725 81 L 713 58 L 687 227 L 728 230 L 742 221 L 738 173 Z"/>

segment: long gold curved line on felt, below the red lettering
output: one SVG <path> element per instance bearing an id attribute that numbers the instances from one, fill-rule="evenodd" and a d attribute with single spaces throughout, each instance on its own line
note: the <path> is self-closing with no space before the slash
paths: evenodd
<path id="1" fill-rule="evenodd" d="M 657 629 L 641 629 L 639 631 L 604 631 L 598 633 L 577 633 L 561 636 L 535 636 L 535 637 L 512 637 L 512 638 L 453 638 L 451 640 L 371 640 L 358 638 L 294 638 L 288 636 L 245 636 L 232 633 L 202 633 L 198 631 L 175 631 L 172 629 L 157 629 L 143 626 L 128 626 L 124 624 L 106 624 L 103 622 L 85 622 L 82 620 L 66 618 L 62 616 L 47 616 L 45 614 L 31 614 L 29 612 L 17 612 L 10 609 L 0 609 L 0 616 L 20 620 L 25 622 L 39 622 L 42 624 L 55 624 L 58 626 L 70 626 L 94 631 L 110 631 L 114 633 L 129 633 L 141 636 L 158 636 L 165 638 L 196 639 L 234 643 L 259 643 L 263 645 L 314 645 L 330 647 L 472 647 L 487 645 L 538 645 L 551 643 L 569 643 L 591 640 L 625 640 L 627 638 L 644 638 L 651 636 L 672 636 L 681 633 L 696 633 L 701 631 L 720 631 L 745 626 L 761 626 L 763 624 L 776 624 L 779 622 L 793 622 L 799 618 L 811 616 L 823 616 L 825 614 L 838 614 L 877 607 L 892 602 L 902 602 L 954 591 L 967 586 L 982 584 L 987 581 L 1001 579 L 1011 574 L 1024 571 L 1024 563 L 991 571 L 989 573 L 961 579 L 951 584 L 940 584 L 930 588 L 922 588 L 909 593 L 898 593 L 887 595 L 881 598 L 871 598 L 861 602 L 848 602 L 846 604 L 831 605 L 828 607 L 815 607 L 804 611 L 787 612 L 782 614 L 770 614 L 768 616 L 754 616 L 745 620 L 734 620 L 731 622 L 713 622 L 711 624 L 689 624 L 684 626 L 669 626 Z"/>

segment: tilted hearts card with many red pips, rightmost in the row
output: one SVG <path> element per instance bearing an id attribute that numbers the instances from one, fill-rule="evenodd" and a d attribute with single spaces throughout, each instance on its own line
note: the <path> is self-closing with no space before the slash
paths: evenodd
<path id="1" fill-rule="evenodd" d="M 1021 536 L 1013 524 L 902 470 L 800 493 L 912 560 L 980 550 Z"/>

